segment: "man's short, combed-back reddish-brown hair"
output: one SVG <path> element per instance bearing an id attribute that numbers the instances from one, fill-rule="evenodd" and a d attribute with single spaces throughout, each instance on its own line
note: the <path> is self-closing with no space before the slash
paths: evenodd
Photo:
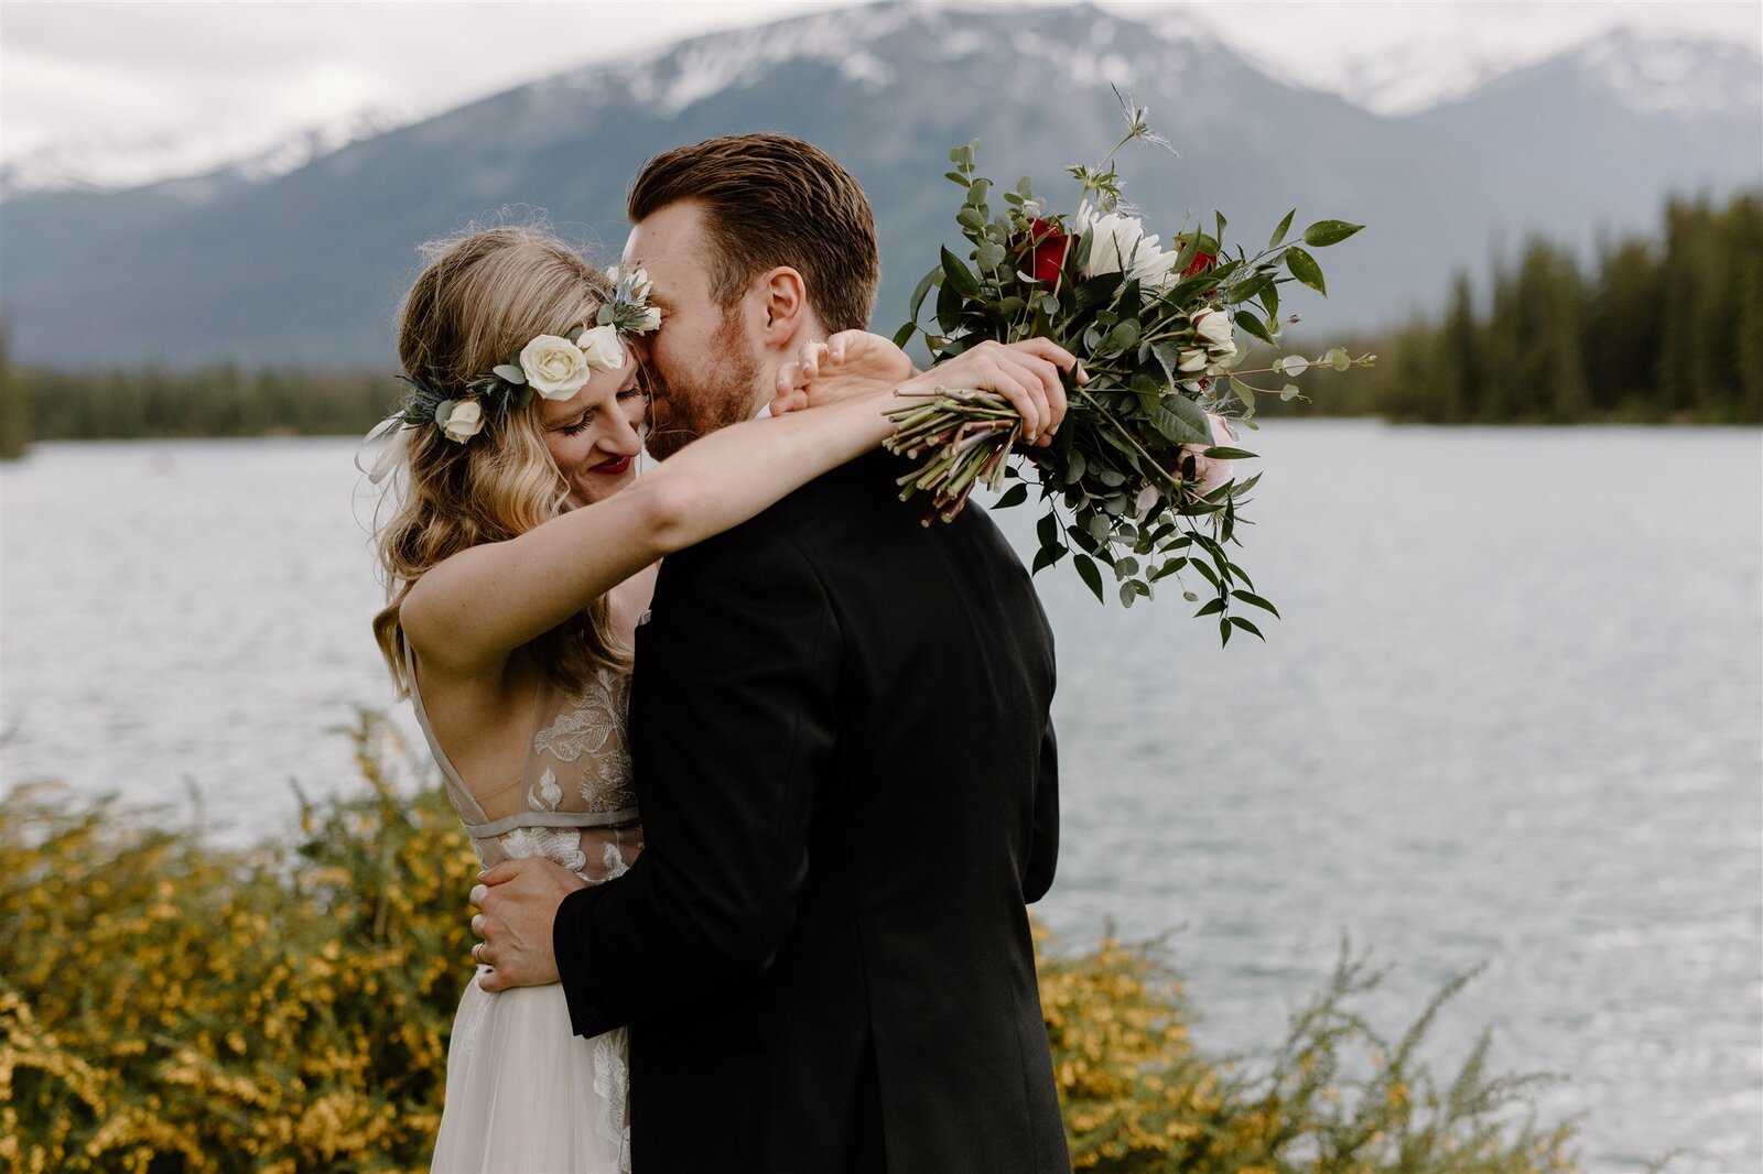
<path id="1" fill-rule="evenodd" d="M 631 224 L 668 204 L 703 206 L 710 293 L 733 305 L 760 273 L 788 264 L 827 331 L 864 330 L 882 259 L 869 199 L 827 152 L 786 134 L 728 134 L 656 155 L 636 175 Z"/>

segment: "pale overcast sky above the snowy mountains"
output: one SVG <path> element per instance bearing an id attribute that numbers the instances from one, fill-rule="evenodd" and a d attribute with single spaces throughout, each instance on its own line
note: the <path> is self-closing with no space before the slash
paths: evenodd
<path id="1" fill-rule="evenodd" d="M 839 7 L 848 5 L 11 0 L 0 5 L 0 160 L 104 145 L 212 166 L 363 108 L 398 120 L 437 113 L 573 65 Z M 1148 4 L 1104 0 L 1104 7 L 1132 12 Z M 1763 4 L 1754 0 L 1157 7 L 1188 9 L 1245 55 L 1283 62 L 1294 81 L 1312 85 L 1343 85 L 1354 71 L 1384 76 L 1417 60 L 1462 71 L 1476 60 L 1539 58 L 1622 23 L 1763 49 Z"/>

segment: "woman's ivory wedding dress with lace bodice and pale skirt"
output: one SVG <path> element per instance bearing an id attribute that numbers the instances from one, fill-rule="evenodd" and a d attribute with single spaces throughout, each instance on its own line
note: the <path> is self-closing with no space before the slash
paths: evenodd
<path id="1" fill-rule="evenodd" d="M 624 740 L 628 675 L 601 668 L 573 695 L 539 682 L 525 769 L 518 786 L 483 799 L 508 809 L 490 818 L 435 740 L 409 645 L 404 663 L 416 721 L 485 867 L 545 857 L 598 885 L 631 866 L 642 830 Z M 624 1029 L 578 1038 L 561 985 L 492 994 L 474 977 L 453 1019 L 432 1169 L 628 1172 L 628 1072 Z"/>

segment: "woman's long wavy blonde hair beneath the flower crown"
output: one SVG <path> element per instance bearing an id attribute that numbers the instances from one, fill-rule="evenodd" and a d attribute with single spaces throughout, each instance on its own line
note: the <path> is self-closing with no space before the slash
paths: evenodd
<path id="1" fill-rule="evenodd" d="M 448 398 L 534 337 L 592 323 L 606 287 L 601 270 L 536 226 L 483 229 L 423 252 L 428 264 L 400 310 L 398 360 L 409 379 Z M 411 682 L 398 610 L 416 580 L 460 550 L 525 534 L 569 508 L 569 485 L 539 430 L 539 402 L 488 412 L 464 444 L 439 427 L 397 432 L 404 458 L 386 499 L 391 516 L 374 534 L 388 599 L 374 638 L 400 695 Z M 596 665 L 628 659 L 610 633 L 605 598 L 527 647 L 566 691 L 580 689 Z"/>

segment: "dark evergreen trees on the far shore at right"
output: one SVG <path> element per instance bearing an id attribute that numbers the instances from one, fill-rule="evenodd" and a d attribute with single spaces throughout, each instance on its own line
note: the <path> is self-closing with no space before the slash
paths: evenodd
<path id="1" fill-rule="evenodd" d="M 1368 342 L 1379 365 L 1317 372 L 1317 411 L 1425 423 L 1763 423 L 1763 192 L 1671 199 L 1654 240 L 1590 271 L 1544 240 L 1467 275 L 1446 310 Z"/>

